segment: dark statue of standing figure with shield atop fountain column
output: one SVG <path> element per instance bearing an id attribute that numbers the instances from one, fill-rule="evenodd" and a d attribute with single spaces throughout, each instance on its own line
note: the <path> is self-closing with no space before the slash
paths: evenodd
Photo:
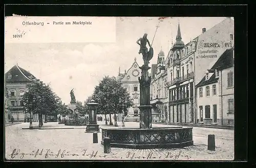
<path id="1" fill-rule="evenodd" d="M 140 42 L 140 43 L 139 43 Z M 140 45 L 139 54 L 142 53 L 142 58 L 144 61 L 144 65 L 148 65 L 149 61 L 153 58 L 153 48 L 150 44 L 150 41 L 147 39 L 147 34 L 145 33 L 142 38 L 139 38 L 136 42 L 138 45 Z M 150 46 L 150 50 L 147 50 L 146 44 Z"/>

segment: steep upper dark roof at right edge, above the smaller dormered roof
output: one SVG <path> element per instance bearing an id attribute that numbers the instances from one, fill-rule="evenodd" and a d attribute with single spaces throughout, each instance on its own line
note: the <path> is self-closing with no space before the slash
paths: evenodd
<path id="1" fill-rule="evenodd" d="M 217 60 L 214 66 L 211 67 L 211 69 L 223 70 L 223 69 L 233 67 L 234 65 L 233 50 L 234 48 L 227 49 L 221 55 L 221 57 Z"/>

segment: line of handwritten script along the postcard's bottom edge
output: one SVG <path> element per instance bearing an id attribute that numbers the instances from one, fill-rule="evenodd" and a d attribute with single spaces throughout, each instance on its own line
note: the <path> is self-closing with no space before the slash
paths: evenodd
<path id="1" fill-rule="evenodd" d="M 31 152 L 25 153 L 20 151 L 20 149 L 14 149 L 12 153 L 9 155 L 11 159 L 57 159 L 57 158 L 63 158 L 63 159 L 76 159 L 76 157 L 83 158 L 83 159 L 102 159 L 102 158 L 108 158 L 108 159 L 129 159 L 129 160 L 136 160 L 136 159 L 168 159 L 168 160 L 178 160 L 180 157 L 185 157 L 186 159 L 191 158 L 188 155 L 182 154 L 182 151 L 175 151 L 175 152 L 167 152 L 165 154 L 156 154 L 153 152 L 145 153 L 144 155 L 141 155 L 140 153 L 135 152 L 122 152 L 122 153 L 100 153 L 98 151 L 91 151 L 89 152 L 87 149 L 81 150 L 81 152 L 70 152 L 67 150 L 61 150 L 59 149 L 56 152 L 53 152 L 51 149 L 37 149 L 33 150 Z"/>

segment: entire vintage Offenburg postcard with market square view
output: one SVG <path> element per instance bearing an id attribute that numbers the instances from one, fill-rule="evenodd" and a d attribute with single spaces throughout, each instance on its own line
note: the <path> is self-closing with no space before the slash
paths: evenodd
<path id="1" fill-rule="evenodd" d="M 234 18 L 5 17 L 5 157 L 233 160 Z"/>

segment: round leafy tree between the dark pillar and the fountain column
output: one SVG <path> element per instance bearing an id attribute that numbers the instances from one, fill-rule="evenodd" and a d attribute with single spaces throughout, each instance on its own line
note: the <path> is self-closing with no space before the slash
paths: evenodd
<path id="1" fill-rule="evenodd" d="M 123 109 L 119 101 L 126 102 L 127 106 L 133 105 L 130 94 L 115 77 L 105 76 L 99 82 L 99 85 L 95 87 L 93 97 L 99 103 L 98 111 L 101 111 L 105 115 L 105 118 L 107 114 L 110 115 L 110 123 L 111 114 L 115 115 L 116 122 L 116 114 L 121 113 Z"/>

